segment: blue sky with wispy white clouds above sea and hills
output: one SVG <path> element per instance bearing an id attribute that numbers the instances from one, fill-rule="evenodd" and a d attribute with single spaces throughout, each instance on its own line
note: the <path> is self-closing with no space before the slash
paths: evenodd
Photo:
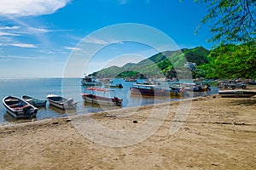
<path id="1" fill-rule="evenodd" d="M 206 14 L 193 0 L 1 0 L 0 78 L 81 77 L 164 49 L 210 49 L 207 25 L 195 35 Z"/>

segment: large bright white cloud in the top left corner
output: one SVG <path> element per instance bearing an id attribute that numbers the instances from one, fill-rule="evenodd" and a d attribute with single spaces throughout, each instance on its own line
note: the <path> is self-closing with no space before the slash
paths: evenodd
<path id="1" fill-rule="evenodd" d="M 0 15 L 22 17 L 53 14 L 71 0 L 1 0 Z"/>

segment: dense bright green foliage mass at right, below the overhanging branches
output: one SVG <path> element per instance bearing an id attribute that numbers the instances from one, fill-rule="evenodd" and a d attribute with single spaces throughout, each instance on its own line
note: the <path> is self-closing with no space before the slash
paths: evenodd
<path id="1" fill-rule="evenodd" d="M 207 78 L 256 79 L 255 42 L 221 45 L 208 55 L 209 63 L 201 65 L 198 74 Z"/>

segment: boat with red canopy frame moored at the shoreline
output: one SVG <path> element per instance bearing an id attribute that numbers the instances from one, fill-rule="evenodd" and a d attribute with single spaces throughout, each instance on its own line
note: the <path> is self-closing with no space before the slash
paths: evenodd
<path id="1" fill-rule="evenodd" d="M 114 90 L 105 88 L 87 88 L 88 93 L 81 94 L 85 102 L 96 105 L 120 106 L 123 99 L 115 96 Z M 111 97 L 113 95 L 113 97 Z"/>

